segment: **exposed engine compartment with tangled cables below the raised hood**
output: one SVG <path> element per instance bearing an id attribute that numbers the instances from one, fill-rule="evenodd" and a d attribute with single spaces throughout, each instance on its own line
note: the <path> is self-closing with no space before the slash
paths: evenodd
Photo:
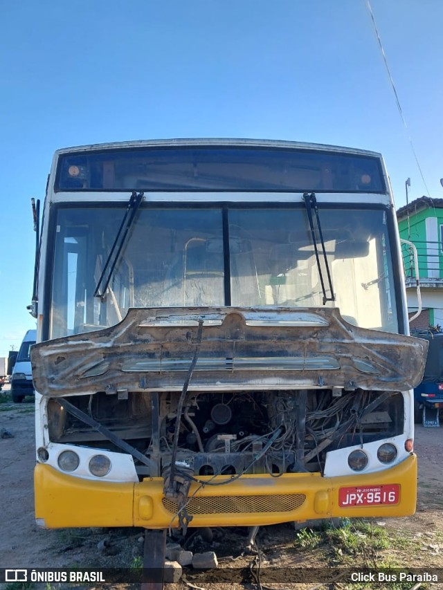
<path id="1" fill-rule="evenodd" d="M 150 459 L 136 460 L 138 477 L 170 465 L 179 392 L 70 396 L 69 403 Z M 189 392 L 179 423 L 176 462 L 194 476 L 323 472 L 327 451 L 401 434 L 399 393 L 299 389 Z M 48 400 L 49 436 L 119 451 L 102 432 Z"/>

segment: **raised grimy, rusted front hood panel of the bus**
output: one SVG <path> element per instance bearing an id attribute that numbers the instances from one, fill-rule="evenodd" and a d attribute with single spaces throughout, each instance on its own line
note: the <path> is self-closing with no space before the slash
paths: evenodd
<path id="1" fill-rule="evenodd" d="M 426 340 L 358 328 L 338 309 L 133 308 L 116 326 L 33 347 L 35 387 L 44 396 L 180 391 L 199 320 L 194 391 L 404 391 L 424 371 Z"/>

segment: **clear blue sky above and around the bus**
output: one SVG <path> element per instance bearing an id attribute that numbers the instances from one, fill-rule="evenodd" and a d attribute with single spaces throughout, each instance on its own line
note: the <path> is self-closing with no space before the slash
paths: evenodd
<path id="1" fill-rule="evenodd" d="M 0 356 L 35 322 L 30 197 L 55 149 L 246 137 L 381 151 L 397 207 L 443 198 L 443 2 L 3 0 Z"/>

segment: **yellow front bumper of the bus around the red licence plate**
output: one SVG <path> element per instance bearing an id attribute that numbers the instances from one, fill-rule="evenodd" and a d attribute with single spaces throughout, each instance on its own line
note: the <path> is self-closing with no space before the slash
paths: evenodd
<path id="1" fill-rule="evenodd" d="M 199 477 L 211 483 L 228 476 Z M 90 481 L 38 464 L 34 473 L 35 516 L 48 528 L 75 526 L 177 526 L 177 506 L 163 497 L 163 479 L 140 483 Z M 386 506 L 338 505 L 338 490 L 399 484 L 399 501 Z M 188 495 L 190 526 L 252 526 L 329 517 L 408 516 L 415 512 L 417 457 L 365 475 L 321 477 L 287 473 L 282 477 L 243 475 L 222 486 L 192 483 Z"/>

